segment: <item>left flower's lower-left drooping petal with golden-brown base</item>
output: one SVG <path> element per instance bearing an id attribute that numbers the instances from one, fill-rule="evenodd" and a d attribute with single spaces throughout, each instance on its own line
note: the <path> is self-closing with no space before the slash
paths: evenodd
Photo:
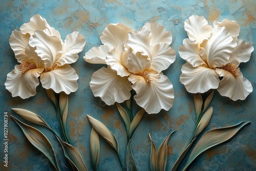
<path id="1" fill-rule="evenodd" d="M 12 93 L 12 97 L 19 96 L 23 99 L 36 94 L 36 87 L 39 84 L 37 77 L 44 71 L 44 68 L 28 70 L 25 73 L 19 70 L 16 65 L 14 70 L 7 74 L 5 82 L 6 89 Z"/>

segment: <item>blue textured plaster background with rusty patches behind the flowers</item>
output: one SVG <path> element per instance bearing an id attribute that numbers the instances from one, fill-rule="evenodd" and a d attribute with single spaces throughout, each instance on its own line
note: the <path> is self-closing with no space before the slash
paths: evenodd
<path id="1" fill-rule="evenodd" d="M 139 170 L 149 170 L 150 143 L 148 133 L 158 146 L 172 131 L 177 131 L 168 142 L 167 170 L 172 168 L 179 154 L 184 149 L 191 137 L 195 124 L 195 108 L 193 95 L 186 92 L 179 82 L 181 66 L 185 63 L 180 58 L 177 49 L 182 45 L 182 40 L 187 37 L 184 30 L 184 20 L 190 15 L 202 15 L 210 24 L 214 20 L 221 22 L 224 18 L 237 20 L 241 27 L 240 38 L 250 42 L 254 49 L 256 41 L 254 0 L 216 0 L 216 1 L 46 1 L 46 0 L 2 0 L 0 4 L 0 170 L 3 166 L 3 121 L 4 112 L 8 115 L 17 115 L 11 108 L 23 108 L 37 113 L 46 122 L 58 131 L 57 117 L 54 107 L 47 97 L 45 90 L 39 85 L 37 94 L 29 99 L 12 98 L 4 86 L 7 73 L 11 72 L 17 63 L 14 53 L 9 45 L 9 37 L 14 29 L 23 23 L 28 23 L 34 14 L 46 18 L 50 26 L 59 30 L 62 39 L 72 31 L 79 31 L 86 36 L 87 44 L 79 54 L 79 59 L 72 67 L 76 70 L 79 88 L 69 95 L 68 131 L 72 143 L 76 146 L 89 168 L 92 169 L 89 136 L 91 125 L 87 114 L 99 119 L 113 132 L 120 144 L 121 152 L 125 152 L 126 133 L 123 122 L 119 117 L 116 106 L 102 105 L 99 98 L 93 96 L 89 82 L 93 72 L 101 65 L 91 65 L 83 60 L 84 53 L 94 46 L 101 45 L 99 36 L 109 23 L 121 22 L 137 30 L 145 22 L 164 25 L 167 31 L 173 34 L 172 48 L 176 50 L 176 61 L 164 74 L 174 84 L 175 102 L 169 111 L 161 111 L 155 115 L 144 115 L 141 123 L 133 135 L 133 152 Z M 226 143 L 218 145 L 203 153 L 189 167 L 189 170 L 255 170 L 256 169 L 256 53 L 252 53 L 247 63 L 240 65 L 243 75 L 249 79 L 253 92 L 244 101 L 232 101 L 222 97 L 216 92 L 211 106 L 214 113 L 205 131 L 216 127 L 236 124 L 240 121 L 251 121 L 239 133 Z M 33 147 L 25 138 L 22 131 L 9 117 L 9 167 L 10 170 L 53 170 L 49 160 Z M 38 126 L 37 126 L 38 127 Z M 60 168 L 69 170 L 71 167 L 63 158 L 63 154 L 56 139 L 49 131 L 38 127 L 51 140 L 56 149 L 57 160 Z M 204 131 L 204 132 L 205 132 Z M 124 153 L 122 153 L 124 160 Z M 182 163 L 184 164 L 184 163 Z M 103 139 L 101 139 L 101 154 L 99 161 L 100 170 L 120 170 L 117 155 Z"/>

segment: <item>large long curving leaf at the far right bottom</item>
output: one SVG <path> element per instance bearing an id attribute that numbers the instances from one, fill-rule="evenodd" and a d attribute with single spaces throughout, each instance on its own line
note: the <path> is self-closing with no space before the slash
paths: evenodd
<path id="1" fill-rule="evenodd" d="M 186 170 L 197 156 L 199 156 L 210 147 L 216 146 L 232 138 L 247 123 L 250 122 L 243 121 L 236 125 L 221 127 L 219 129 L 213 129 L 206 132 L 195 145 L 183 170 Z"/>

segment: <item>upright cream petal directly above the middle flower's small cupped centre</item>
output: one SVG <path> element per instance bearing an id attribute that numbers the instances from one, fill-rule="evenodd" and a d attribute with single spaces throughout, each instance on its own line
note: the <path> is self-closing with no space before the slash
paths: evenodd
<path id="1" fill-rule="evenodd" d="M 142 52 L 142 55 L 147 55 L 152 59 L 150 51 L 150 42 L 152 39 L 152 33 L 144 28 L 137 32 L 128 34 L 127 45 L 133 49 L 134 52 Z"/>

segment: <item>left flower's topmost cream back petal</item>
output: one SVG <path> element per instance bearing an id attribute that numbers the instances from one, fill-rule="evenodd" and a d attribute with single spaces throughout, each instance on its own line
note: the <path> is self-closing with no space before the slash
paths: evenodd
<path id="1" fill-rule="evenodd" d="M 35 30 L 45 30 L 47 27 L 50 26 L 46 19 L 39 14 L 36 14 L 30 18 L 29 23 L 25 23 L 20 27 L 20 31 L 22 31 L 23 34 L 29 33 L 32 36 L 34 35 Z"/>

